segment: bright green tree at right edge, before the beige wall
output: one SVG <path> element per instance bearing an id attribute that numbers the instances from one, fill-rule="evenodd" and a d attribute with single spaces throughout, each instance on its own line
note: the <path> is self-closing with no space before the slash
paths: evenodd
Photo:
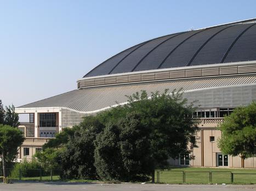
<path id="1" fill-rule="evenodd" d="M 241 156 L 244 160 L 256 155 L 256 102 L 239 107 L 224 118 L 218 146 L 224 154 Z M 244 167 L 244 164 L 242 165 Z"/>

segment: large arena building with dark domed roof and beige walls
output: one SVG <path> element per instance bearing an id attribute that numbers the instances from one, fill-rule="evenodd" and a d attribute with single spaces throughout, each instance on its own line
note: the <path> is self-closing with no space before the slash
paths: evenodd
<path id="1" fill-rule="evenodd" d="M 77 80 L 77 89 L 16 108 L 29 115 L 21 123 L 26 140 L 20 160 L 31 159 L 61 129 L 82 117 L 127 102 L 126 95 L 146 90 L 183 88 L 197 100 L 198 148 L 173 165 L 256 168 L 256 158 L 226 156 L 217 146 L 217 125 L 237 106 L 256 100 L 256 19 L 166 35 L 130 47 Z"/>

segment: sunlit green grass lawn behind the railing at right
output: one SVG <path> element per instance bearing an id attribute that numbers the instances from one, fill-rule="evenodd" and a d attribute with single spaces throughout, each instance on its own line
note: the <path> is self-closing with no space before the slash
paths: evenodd
<path id="1" fill-rule="evenodd" d="M 161 183 L 183 183 L 183 171 L 185 182 L 193 184 L 210 183 L 209 172 L 212 172 L 212 183 L 231 183 L 231 172 L 234 174 L 233 183 L 251 184 L 256 183 L 255 169 L 227 169 L 227 168 L 196 168 L 173 167 L 169 170 L 160 171 Z M 253 174 L 253 175 L 250 175 Z M 155 175 L 157 178 L 157 175 Z"/>

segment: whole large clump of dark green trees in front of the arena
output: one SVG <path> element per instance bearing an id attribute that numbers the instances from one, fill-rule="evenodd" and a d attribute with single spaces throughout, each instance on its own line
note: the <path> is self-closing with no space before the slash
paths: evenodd
<path id="1" fill-rule="evenodd" d="M 194 110 L 179 92 L 138 92 L 126 105 L 85 117 L 47 147 L 64 146 L 59 162 L 65 178 L 144 181 L 196 146 Z"/>

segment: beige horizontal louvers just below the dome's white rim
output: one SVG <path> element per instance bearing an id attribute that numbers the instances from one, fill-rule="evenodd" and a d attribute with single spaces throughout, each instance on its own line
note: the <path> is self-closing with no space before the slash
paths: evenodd
<path id="1" fill-rule="evenodd" d="M 103 85 L 117 85 L 121 83 L 131 82 L 146 82 L 158 80 L 173 80 L 193 77 L 206 77 L 206 76 L 221 76 L 221 75 L 237 75 L 237 74 L 253 74 L 256 73 L 256 64 L 248 65 L 231 65 L 231 66 L 218 66 L 213 68 L 200 68 L 200 69 L 180 69 L 170 71 L 152 71 L 145 74 L 127 74 L 116 77 L 107 77 L 97 79 L 81 79 L 78 81 L 79 88 L 86 88 L 92 86 Z"/>

